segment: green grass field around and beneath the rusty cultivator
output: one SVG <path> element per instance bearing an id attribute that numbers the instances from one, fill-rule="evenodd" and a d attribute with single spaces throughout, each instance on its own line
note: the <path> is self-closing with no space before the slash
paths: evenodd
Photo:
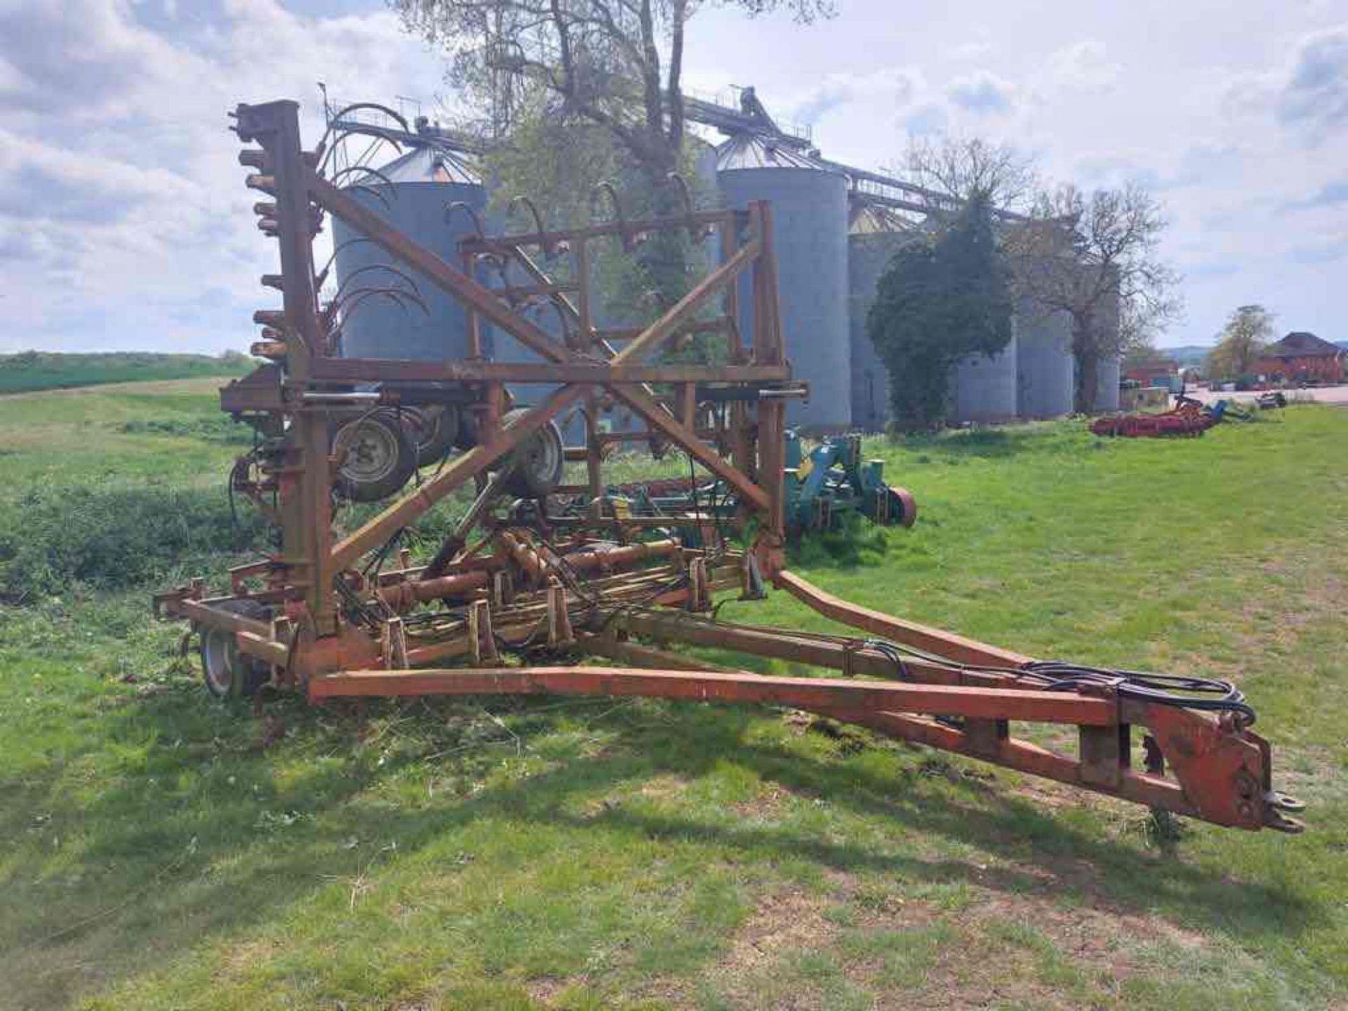
<path id="1" fill-rule="evenodd" d="M 213 386 L 0 400 L 0 1007 L 1348 1002 L 1348 411 L 876 441 L 918 526 L 797 553 L 1024 652 L 1239 679 L 1310 830 L 1174 837 L 767 709 L 212 704 L 147 596 L 256 532 Z"/>

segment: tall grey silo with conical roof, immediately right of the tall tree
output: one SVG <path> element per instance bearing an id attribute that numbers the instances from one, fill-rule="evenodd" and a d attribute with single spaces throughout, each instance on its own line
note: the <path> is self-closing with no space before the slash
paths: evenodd
<path id="1" fill-rule="evenodd" d="M 848 182 L 799 147 L 737 133 L 717 151 L 717 183 L 727 206 L 772 205 L 782 336 L 794 375 L 810 384 L 787 422 L 814 430 L 852 423 L 848 345 Z M 748 306 L 747 276 L 740 302 Z"/>

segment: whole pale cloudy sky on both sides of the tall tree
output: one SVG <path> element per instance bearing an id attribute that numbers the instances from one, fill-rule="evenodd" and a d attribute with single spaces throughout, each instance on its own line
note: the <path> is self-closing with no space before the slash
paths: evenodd
<path id="1" fill-rule="evenodd" d="M 1138 179 L 1205 344 L 1262 302 L 1348 338 L 1348 0 L 837 0 L 813 27 L 702 12 L 689 85 L 754 84 L 834 159 L 1007 140 L 1053 178 Z M 453 104 L 379 0 L 0 0 L 0 352 L 245 349 L 274 249 L 225 112 Z"/>

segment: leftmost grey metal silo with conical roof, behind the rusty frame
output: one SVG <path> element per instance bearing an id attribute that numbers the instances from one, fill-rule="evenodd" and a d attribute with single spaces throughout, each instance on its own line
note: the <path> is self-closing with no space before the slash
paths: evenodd
<path id="1" fill-rule="evenodd" d="M 458 240 L 473 231 L 472 217 L 456 210 L 446 222 L 446 209 L 461 201 L 477 214 L 487 206 L 487 189 L 469 166 L 453 152 L 426 146 L 396 158 L 379 170 L 388 182 L 367 177 L 364 189 L 350 189 L 352 197 L 390 224 L 431 249 L 453 267 L 461 266 Z M 398 286 L 386 271 L 363 271 L 363 267 L 392 264 L 408 272 L 430 313 L 410 306 L 402 309 L 380 297 L 365 298 L 350 313 L 342 328 L 341 353 L 364 359 L 421 359 L 442 361 L 468 353 L 464 310 L 425 275 L 399 263 L 381 248 L 359 237 L 341 220 L 333 220 L 333 243 L 337 249 L 337 283 L 348 279 L 348 291 L 369 286 Z M 487 328 L 484 328 L 485 330 Z M 484 334 L 484 340 L 489 336 Z"/>

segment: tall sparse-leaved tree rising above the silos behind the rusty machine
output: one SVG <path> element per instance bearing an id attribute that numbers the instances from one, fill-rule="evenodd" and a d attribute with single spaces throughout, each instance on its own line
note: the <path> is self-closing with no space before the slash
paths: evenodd
<path id="1" fill-rule="evenodd" d="M 608 181 L 623 179 L 624 209 L 679 210 L 669 185 L 683 166 L 683 58 L 687 20 L 705 0 L 390 0 L 404 26 L 445 47 L 449 78 L 476 121 L 472 132 L 506 151 L 538 128 L 580 129 L 582 143 L 605 148 L 619 162 Z M 832 16 L 832 0 L 720 0 L 751 16 L 787 11 L 798 22 Z M 554 133 L 554 139 L 557 135 Z M 541 152 L 547 164 L 570 142 Z M 574 144 L 572 144 L 574 146 Z M 519 148 L 516 148 L 519 150 Z M 524 146 L 528 156 L 528 146 Z M 535 148 L 537 150 L 537 148 Z M 516 158 L 514 162 L 520 164 Z M 631 167 L 635 171 L 628 173 Z M 565 173 L 562 173 L 565 175 Z M 632 177 L 636 178 L 624 178 Z M 512 185 L 516 181 L 504 179 Z M 599 179 L 578 179 L 573 198 L 586 202 Z M 515 191 L 523 191 L 523 187 Z M 551 205 L 555 208 L 557 205 Z M 631 264 L 646 318 L 658 315 L 689 287 L 689 243 L 658 232 Z M 634 319 L 639 322 L 639 319 Z"/>

